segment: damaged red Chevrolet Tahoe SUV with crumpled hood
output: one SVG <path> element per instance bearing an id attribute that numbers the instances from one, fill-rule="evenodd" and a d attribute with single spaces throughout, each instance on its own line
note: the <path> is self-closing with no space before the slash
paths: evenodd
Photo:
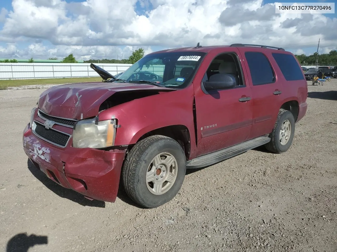
<path id="1" fill-rule="evenodd" d="M 307 82 L 282 48 L 233 44 L 146 55 L 118 79 L 44 91 L 24 130 L 24 151 L 56 183 L 115 202 L 121 181 L 137 204 L 158 207 L 186 169 L 265 145 L 292 144 L 307 110 Z"/>

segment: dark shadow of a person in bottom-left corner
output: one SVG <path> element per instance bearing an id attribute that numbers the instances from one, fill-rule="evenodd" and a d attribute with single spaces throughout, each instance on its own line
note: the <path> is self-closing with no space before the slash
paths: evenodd
<path id="1" fill-rule="evenodd" d="M 21 233 L 13 236 L 7 242 L 6 252 L 28 252 L 29 248 L 35 245 L 48 244 L 47 236 L 30 235 Z"/>

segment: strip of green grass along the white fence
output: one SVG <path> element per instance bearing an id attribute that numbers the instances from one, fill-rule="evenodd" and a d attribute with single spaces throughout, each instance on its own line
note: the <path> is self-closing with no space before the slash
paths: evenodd
<path id="1" fill-rule="evenodd" d="M 76 82 L 95 82 L 102 81 L 101 77 L 85 77 L 85 78 L 58 78 L 58 79 L 29 79 L 29 80 L 0 80 L 0 90 L 8 87 L 20 87 L 26 85 L 50 85 L 50 84 L 66 84 Z"/>

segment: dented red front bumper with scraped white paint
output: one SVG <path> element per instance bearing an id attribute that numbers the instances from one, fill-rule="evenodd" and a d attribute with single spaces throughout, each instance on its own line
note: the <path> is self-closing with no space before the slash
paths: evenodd
<path id="1" fill-rule="evenodd" d="M 26 126 L 24 151 L 50 179 L 92 199 L 115 202 L 126 149 L 59 148 Z"/>

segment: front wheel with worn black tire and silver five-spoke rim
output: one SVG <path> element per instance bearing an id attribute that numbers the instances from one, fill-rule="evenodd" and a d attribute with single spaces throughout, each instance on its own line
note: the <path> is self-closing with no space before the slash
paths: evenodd
<path id="1" fill-rule="evenodd" d="M 132 147 L 123 165 L 122 180 L 131 200 L 144 208 L 155 208 L 176 196 L 185 174 L 186 157 L 181 145 L 170 137 L 154 135 Z M 161 192 L 156 191 L 160 183 Z"/>

